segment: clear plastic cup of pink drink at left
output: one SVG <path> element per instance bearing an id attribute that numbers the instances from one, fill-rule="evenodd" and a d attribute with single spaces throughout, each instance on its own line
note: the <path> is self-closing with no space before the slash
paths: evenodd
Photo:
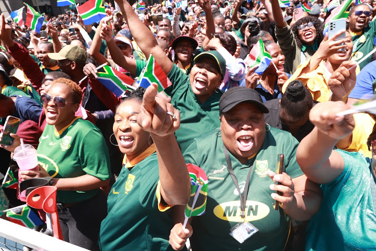
<path id="1" fill-rule="evenodd" d="M 24 151 L 21 146 L 17 147 L 13 159 L 17 162 L 20 170 L 33 170 L 38 166 L 37 150 L 29 144 L 24 145 Z"/>

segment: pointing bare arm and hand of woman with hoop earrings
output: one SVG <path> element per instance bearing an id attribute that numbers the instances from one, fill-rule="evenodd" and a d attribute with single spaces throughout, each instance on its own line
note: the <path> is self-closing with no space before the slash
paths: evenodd
<path id="1" fill-rule="evenodd" d="M 137 122 L 150 132 L 155 144 L 163 200 L 168 205 L 185 205 L 190 198 L 191 180 L 173 134 L 180 126 L 180 114 L 156 94 L 157 85 L 153 83 L 145 91 Z"/>

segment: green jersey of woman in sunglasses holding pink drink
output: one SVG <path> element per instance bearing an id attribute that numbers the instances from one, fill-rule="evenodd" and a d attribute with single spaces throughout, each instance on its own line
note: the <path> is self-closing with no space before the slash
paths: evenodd
<path id="1" fill-rule="evenodd" d="M 39 139 L 38 162 L 53 178 L 75 178 L 85 174 L 100 180 L 110 178 L 108 149 L 101 131 L 90 121 L 76 117 L 60 132 L 46 125 Z M 57 192 L 60 203 L 90 199 L 98 189 Z"/>

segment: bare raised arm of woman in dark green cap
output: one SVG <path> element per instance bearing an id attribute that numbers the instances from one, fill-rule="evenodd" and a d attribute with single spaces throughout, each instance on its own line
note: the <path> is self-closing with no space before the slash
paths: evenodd
<path id="1" fill-rule="evenodd" d="M 127 1 L 116 0 L 116 3 L 120 6 L 125 22 L 141 51 L 147 58 L 152 54 L 164 73 L 168 74 L 173 64 L 158 46 L 153 33 L 142 23 Z"/>

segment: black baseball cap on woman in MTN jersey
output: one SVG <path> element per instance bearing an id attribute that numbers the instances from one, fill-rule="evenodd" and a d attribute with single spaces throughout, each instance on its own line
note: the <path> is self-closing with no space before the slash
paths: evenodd
<path id="1" fill-rule="evenodd" d="M 228 112 L 242 102 L 256 105 L 263 113 L 269 113 L 269 109 L 262 102 L 260 94 L 254 89 L 238 86 L 228 89 L 220 99 L 220 113 Z"/>

